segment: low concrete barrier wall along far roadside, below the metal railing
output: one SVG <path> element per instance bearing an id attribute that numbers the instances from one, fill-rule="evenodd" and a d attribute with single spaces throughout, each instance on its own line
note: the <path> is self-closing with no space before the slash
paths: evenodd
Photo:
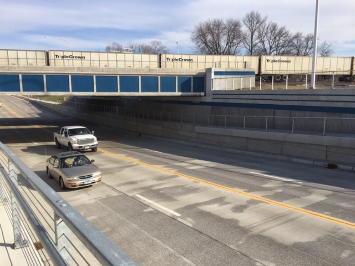
<path id="1" fill-rule="evenodd" d="M 70 116 L 88 123 L 114 127 L 137 134 L 149 134 L 202 144 L 297 156 L 327 161 L 332 164 L 354 165 L 355 162 L 355 139 L 352 137 L 196 127 L 110 113 L 103 115 L 103 113 L 71 109 L 63 105 L 34 102 L 49 110 L 65 115 L 70 114 Z"/>

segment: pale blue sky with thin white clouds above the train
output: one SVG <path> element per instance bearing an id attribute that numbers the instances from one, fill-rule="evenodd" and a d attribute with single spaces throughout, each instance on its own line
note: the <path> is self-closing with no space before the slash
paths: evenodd
<path id="1" fill-rule="evenodd" d="M 355 1 L 319 0 L 318 7 L 318 44 L 354 56 Z M 198 23 L 242 20 L 251 11 L 290 33 L 315 32 L 316 0 L 0 0 L 0 49 L 105 51 L 113 42 L 159 40 L 172 54 L 193 54 Z"/>

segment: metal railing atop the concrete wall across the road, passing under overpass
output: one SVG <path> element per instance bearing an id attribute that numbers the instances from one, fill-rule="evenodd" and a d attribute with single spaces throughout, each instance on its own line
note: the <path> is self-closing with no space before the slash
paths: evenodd
<path id="1" fill-rule="evenodd" d="M 128 107 L 86 104 L 67 101 L 73 108 L 137 117 L 161 122 L 191 124 L 238 130 L 286 132 L 291 134 L 355 134 L 355 118 L 196 115 L 187 113 L 142 110 Z"/>

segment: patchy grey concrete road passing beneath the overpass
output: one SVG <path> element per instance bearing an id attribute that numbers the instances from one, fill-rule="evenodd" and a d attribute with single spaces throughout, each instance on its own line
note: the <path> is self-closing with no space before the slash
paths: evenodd
<path id="1" fill-rule="evenodd" d="M 354 265 L 354 172 L 128 134 L 1 98 L 0 141 L 141 266 Z M 53 132 L 80 124 L 103 182 L 62 191 Z M 66 149 L 62 148 L 62 151 Z"/>

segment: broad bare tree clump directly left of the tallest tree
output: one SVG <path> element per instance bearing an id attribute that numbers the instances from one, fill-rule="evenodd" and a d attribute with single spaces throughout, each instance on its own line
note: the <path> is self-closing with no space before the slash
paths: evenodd
<path id="1" fill-rule="evenodd" d="M 207 20 L 195 26 L 191 41 L 201 54 L 234 55 L 242 43 L 241 23 L 229 18 Z"/>

